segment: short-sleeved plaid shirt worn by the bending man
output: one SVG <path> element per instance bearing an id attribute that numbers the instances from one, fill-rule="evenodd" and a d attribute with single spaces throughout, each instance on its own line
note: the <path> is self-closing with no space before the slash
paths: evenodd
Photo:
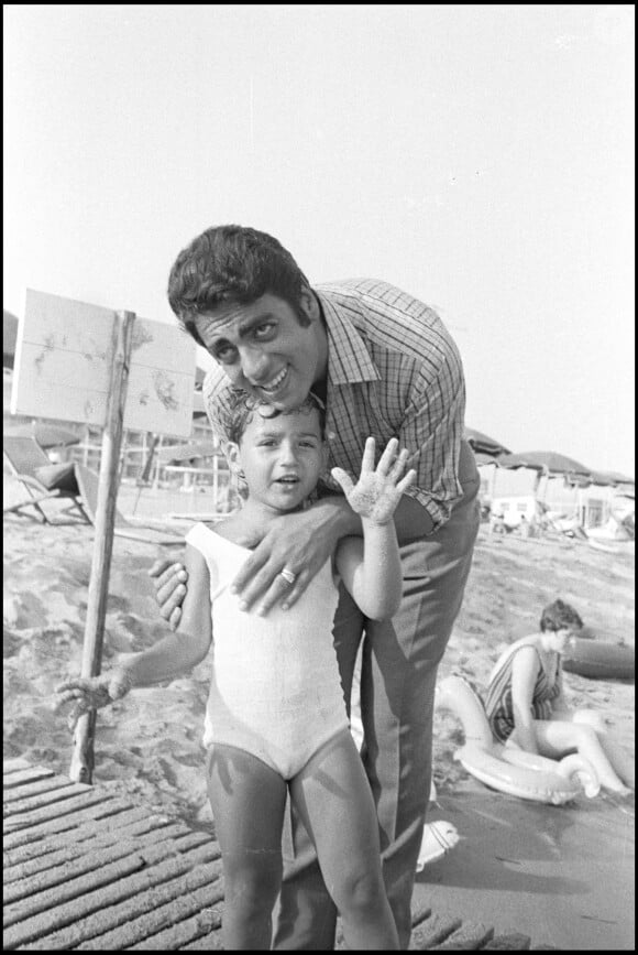
<path id="1" fill-rule="evenodd" d="M 417 471 L 406 493 L 422 504 L 436 530 L 463 493 L 465 384 L 457 346 L 436 312 L 385 282 L 349 279 L 314 291 L 328 332 L 329 467 L 342 467 L 356 480 L 365 438 L 372 435 L 381 453 L 397 437 Z M 232 387 L 221 366 L 208 372 L 202 392 L 223 446 Z M 330 477 L 327 482 L 338 487 Z"/>

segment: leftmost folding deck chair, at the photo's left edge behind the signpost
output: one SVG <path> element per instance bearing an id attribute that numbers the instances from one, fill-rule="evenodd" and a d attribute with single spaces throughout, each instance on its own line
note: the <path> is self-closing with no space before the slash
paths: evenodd
<path id="1" fill-rule="evenodd" d="M 2 449 L 11 473 L 29 495 L 26 500 L 3 507 L 2 513 L 23 514 L 41 523 L 54 524 L 58 522 L 50 520 L 41 504 L 67 499 L 70 504 L 63 509 L 63 513 L 75 511 L 74 517 L 91 522 L 84 508 L 73 463 L 52 464 L 46 452 L 30 436 L 6 434 Z"/>

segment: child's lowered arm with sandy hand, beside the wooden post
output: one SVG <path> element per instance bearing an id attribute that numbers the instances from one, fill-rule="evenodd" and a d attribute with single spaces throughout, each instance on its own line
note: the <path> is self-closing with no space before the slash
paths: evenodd
<path id="1" fill-rule="evenodd" d="M 67 680 L 56 687 L 63 703 L 74 703 L 68 717 L 72 729 L 82 713 L 108 706 L 134 686 L 148 686 L 187 673 L 204 660 L 212 640 L 208 567 L 190 544 L 186 545 L 185 565 L 189 587 L 176 632 L 107 673 Z"/>

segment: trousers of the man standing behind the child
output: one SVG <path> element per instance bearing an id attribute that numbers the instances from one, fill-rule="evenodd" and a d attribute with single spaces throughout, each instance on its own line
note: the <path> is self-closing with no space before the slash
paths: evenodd
<path id="1" fill-rule="evenodd" d="M 363 639 L 361 756 L 377 809 L 384 880 L 404 949 L 430 795 L 437 670 L 461 608 L 480 523 L 480 480 L 465 443 L 461 459 L 464 495 L 450 519 L 433 534 L 400 549 L 404 594 L 397 614 L 391 621 L 369 620 L 342 588 L 334 620 L 346 701 Z M 273 948 L 331 951 L 336 908 L 312 844 L 289 806 L 286 818 Z"/>

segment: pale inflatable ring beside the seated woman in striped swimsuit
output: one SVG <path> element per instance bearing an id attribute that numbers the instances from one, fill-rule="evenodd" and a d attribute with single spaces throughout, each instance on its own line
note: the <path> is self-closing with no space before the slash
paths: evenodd
<path id="1" fill-rule="evenodd" d="M 483 703 L 465 677 L 452 674 L 438 684 L 436 704 L 463 725 L 465 745 L 454 759 L 491 789 L 551 805 L 570 802 L 583 790 L 590 799 L 600 792 L 596 771 L 582 756 L 559 761 L 495 742 Z"/>

